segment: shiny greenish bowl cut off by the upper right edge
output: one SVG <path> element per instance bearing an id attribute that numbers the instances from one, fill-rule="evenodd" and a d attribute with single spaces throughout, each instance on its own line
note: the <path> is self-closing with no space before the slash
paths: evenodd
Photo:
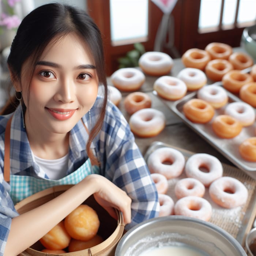
<path id="1" fill-rule="evenodd" d="M 244 29 L 241 37 L 241 46 L 256 60 L 256 25 Z"/>

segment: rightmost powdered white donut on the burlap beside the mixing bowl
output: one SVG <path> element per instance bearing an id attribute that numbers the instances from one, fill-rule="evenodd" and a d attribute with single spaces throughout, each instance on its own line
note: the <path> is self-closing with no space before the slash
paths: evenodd
<path id="1" fill-rule="evenodd" d="M 234 208 L 246 203 L 248 191 L 241 181 L 233 177 L 221 177 L 212 182 L 209 195 L 215 203 L 224 208 Z"/>

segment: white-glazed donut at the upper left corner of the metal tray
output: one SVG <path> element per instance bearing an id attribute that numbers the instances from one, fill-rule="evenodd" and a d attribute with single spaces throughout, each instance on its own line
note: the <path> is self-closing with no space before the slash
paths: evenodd
<path id="1" fill-rule="evenodd" d="M 173 76 L 161 76 L 155 80 L 153 89 L 164 99 L 176 101 L 187 93 L 186 84 Z"/>

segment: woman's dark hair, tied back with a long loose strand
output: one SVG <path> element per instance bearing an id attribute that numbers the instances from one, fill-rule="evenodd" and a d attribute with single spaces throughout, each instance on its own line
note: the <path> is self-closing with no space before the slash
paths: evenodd
<path id="1" fill-rule="evenodd" d="M 86 145 L 87 154 L 92 163 L 95 163 L 97 159 L 91 153 L 90 144 L 103 124 L 108 90 L 101 33 L 90 16 L 82 10 L 65 4 L 45 4 L 36 8 L 20 23 L 11 45 L 11 52 L 7 59 L 7 64 L 11 72 L 12 80 L 20 81 L 22 65 L 25 61 L 29 61 L 31 70 L 29 70 L 29 74 L 27 75 L 27 83 L 30 85 L 35 64 L 38 62 L 46 46 L 53 38 L 57 40 L 68 33 L 75 33 L 84 41 L 89 51 L 89 57 L 94 61 L 99 84 L 103 85 L 105 88 L 102 111 L 96 124 L 90 131 Z M 29 99 L 29 90 L 27 93 L 27 98 Z M 13 100 L 15 103 L 14 97 Z M 2 114 L 8 112 L 10 103 L 11 101 L 9 102 L 9 108 L 7 106 L 5 108 L 6 111 L 2 111 Z M 18 105 L 17 103 L 18 102 L 16 102 L 16 106 Z"/>

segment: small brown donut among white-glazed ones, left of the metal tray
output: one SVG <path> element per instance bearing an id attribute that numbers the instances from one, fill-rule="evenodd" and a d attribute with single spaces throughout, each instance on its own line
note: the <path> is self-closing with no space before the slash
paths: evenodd
<path id="1" fill-rule="evenodd" d="M 124 108 L 129 114 L 133 114 L 140 109 L 151 108 L 151 98 L 146 93 L 135 91 L 125 97 Z"/>

